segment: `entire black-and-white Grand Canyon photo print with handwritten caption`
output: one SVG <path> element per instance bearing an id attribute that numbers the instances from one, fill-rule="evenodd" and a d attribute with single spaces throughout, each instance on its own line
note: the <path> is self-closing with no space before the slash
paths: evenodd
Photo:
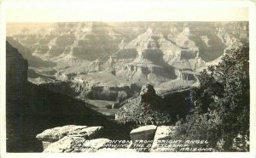
<path id="1" fill-rule="evenodd" d="M 7 153 L 253 151 L 249 8 L 37 2 L 9 7 L 1 34 Z"/>

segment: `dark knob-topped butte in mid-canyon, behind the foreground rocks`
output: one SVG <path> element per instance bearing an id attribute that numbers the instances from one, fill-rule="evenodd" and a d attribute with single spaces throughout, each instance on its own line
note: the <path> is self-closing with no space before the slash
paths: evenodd
<path id="1" fill-rule="evenodd" d="M 189 103 L 186 101 L 189 92 L 173 92 L 168 95 L 157 95 L 150 84 L 143 85 L 137 97 L 128 99 L 115 115 L 115 120 L 122 123 L 136 124 L 172 124 L 177 116 L 188 114 Z"/>

